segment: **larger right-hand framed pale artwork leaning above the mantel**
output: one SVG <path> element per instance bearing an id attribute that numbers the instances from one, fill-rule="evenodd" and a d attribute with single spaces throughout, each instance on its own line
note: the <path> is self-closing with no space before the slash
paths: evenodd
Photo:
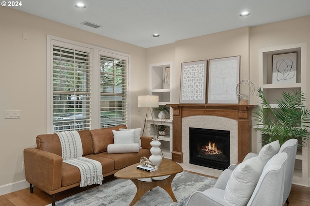
<path id="1" fill-rule="evenodd" d="M 209 60 L 208 103 L 239 103 L 240 56 Z"/>

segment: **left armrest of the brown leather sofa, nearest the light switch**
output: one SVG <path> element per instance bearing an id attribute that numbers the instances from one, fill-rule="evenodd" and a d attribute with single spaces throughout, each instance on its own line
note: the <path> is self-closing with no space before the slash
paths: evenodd
<path id="1" fill-rule="evenodd" d="M 62 157 L 37 148 L 24 149 L 26 180 L 50 193 L 61 188 Z"/>

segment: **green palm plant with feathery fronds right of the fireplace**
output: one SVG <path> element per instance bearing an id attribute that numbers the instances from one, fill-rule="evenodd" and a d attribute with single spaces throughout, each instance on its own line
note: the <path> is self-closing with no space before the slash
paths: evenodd
<path id="1" fill-rule="evenodd" d="M 298 140 L 298 147 L 306 145 L 310 135 L 310 110 L 304 104 L 306 94 L 298 90 L 283 91 L 274 108 L 267 102 L 262 88 L 257 92 L 260 104 L 253 119 L 258 122 L 257 130 L 262 132 L 263 145 L 275 140 L 282 145 L 292 138 Z"/>

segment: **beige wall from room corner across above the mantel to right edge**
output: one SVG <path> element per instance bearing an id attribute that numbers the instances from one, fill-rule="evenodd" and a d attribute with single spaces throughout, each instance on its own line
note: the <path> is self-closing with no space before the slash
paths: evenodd
<path id="1" fill-rule="evenodd" d="M 241 56 L 240 80 L 249 79 L 258 86 L 258 50 L 260 48 L 278 45 L 307 42 L 308 68 L 310 61 L 310 16 L 289 19 L 276 23 L 233 29 L 215 34 L 177 41 L 170 44 L 147 49 L 147 64 L 161 62 L 162 54 L 165 61 L 174 61 L 174 89 L 172 103 L 179 103 L 181 63 L 203 59 L 216 59 L 222 57 Z M 174 50 L 171 46 L 175 46 Z M 170 53 L 167 53 L 170 51 Z M 174 57 L 173 57 L 174 56 Z M 167 59 L 170 57 L 171 59 Z M 307 68 L 307 70 L 308 70 Z M 310 72 L 307 73 L 310 79 Z M 310 84 L 307 84 L 307 96 L 310 96 Z M 310 101 L 310 100 L 309 100 Z M 310 102 L 307 102 L 309 107 Z M 254 95 L 250 103 L 256 104 Z M 252 130 L 252 151 L 257 152 L 257 133 Z M 309 149 L 309 173 L 310 173 L 310 149 Z"/>

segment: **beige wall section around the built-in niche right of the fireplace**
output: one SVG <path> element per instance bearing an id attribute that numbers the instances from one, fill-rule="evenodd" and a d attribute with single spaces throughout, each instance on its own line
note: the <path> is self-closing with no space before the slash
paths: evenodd
<path id="1" fill-rule="evenodd" d="M 258 50 L 260 48 L 307 43 L 307 80 L 310 79 L 310 15 L 280 21 L 271 24 L 265 24 L 250 28 L 250 80 L 254 85 L 258 85 Z M 310 84 L 306 83 L 304 92 L 310 97 Z M 252 100 L 255 103 L 255 97 Z M 307 101 L 310 107 L 310 98 Z M 253 130 L 252 136 L 256 140 L 256 131 Z M 253 145 L 253 144 L 252 144 Z M 308 141 L 308 177 L 310 174 L 310 141 Z M 255 147 L 254 147 L 255 149 Z"/>

